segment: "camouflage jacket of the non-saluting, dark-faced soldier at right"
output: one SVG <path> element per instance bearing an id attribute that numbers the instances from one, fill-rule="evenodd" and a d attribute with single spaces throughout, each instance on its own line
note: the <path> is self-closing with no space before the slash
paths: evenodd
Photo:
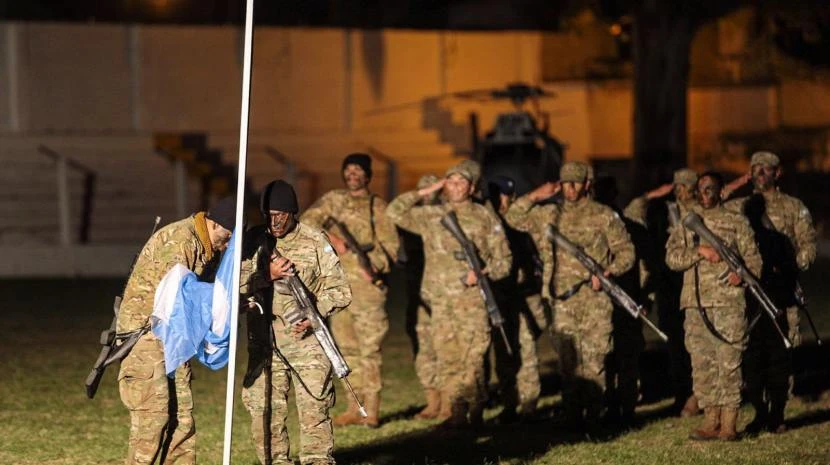
<path id="1" fill-rule="evenodd" d="M 746 217 L 723 206 L 696 207 L 694 211 L 703 218 L 706 227 L 738 252 L 749 271 L 760 275 L 761 255 Z M 697 235 L 682 225 L 672 228 L 666 243 L 666 265 L 674 271 L 684 272 L 680 308 L 743 307 L 743 287 L 730 286 L 718 279 L 729 267 L 723 261 L 710 263 L 704 260 L 697 252 L 700 244 Z"/>

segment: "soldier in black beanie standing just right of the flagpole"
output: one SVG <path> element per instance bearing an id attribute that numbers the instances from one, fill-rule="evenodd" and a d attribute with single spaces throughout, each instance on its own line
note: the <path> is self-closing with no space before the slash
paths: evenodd
<path id="1" fill-rule="evenodd" d="M 326 236 L 297 220 L 297 197 L 290 184 L 281 180 L 270 183 L 263 191 L 260 205 L 267 224 L 258 234 L 249 235 L 248 248 L 256 251 L 243 260 L 240 276 L 242 294 L 272 295 L 271 302 L 258 302 L 270 304 L 271 312 L 268 313 L 274 318 L 270 322 L 273 351 L 267 344 L 269 350 L 263 354 L 272 357 L 271 398 L 266 398 L 266 376 L 261 376 L 258 371 L 261 365 L 253 370 L 249 368 L 242 389 L 242 402 L 251 414 L 251 434 L 257 456 L 260 462 L 266 463 L 267 428 L 270 429 L 268 440 L 272 463 L 294 463 L 288 458 L 286 423 L 288 391 L 293 385 L 300 423 L 300 462 L 303 465 L 333 464 L 334 435 L 329 417 L 329 409 L 334 404 L 331 363 L 310 334 L 308 320 L 294 325 L 288 323 L 297 305 L 282 278 L 298 276 L 314 294 L 323 318 L 331 317 L 349 305 L 351 290 L 340 259 Z M 269 241 L 274 239 L 276 246 L 271 250 Z M 268 257 L 263 259 L 263 253 Z M 263 263 L 268 264 L 267 269 Z M 272 413 L 270 424 L 266 426 L 264 417 L 269 402 Z"/>

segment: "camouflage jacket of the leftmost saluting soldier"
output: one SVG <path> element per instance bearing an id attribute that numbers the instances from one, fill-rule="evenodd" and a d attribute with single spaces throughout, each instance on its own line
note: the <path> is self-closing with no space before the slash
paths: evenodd
<path id="1" fill-rule="evenodd" d="M 466 276 L 469 266 L 464 261 L 461 245 L 441 225 L 441 218 L 450 210 L 455 210 L 461 229 L 478 249 L 487 276 L 495 281 L 510 273 L 510 247 L 501 220 L 495 213 L 473 202 L 454 207 L 449 204 L 416 207 L 419 200 L 415 191 L 401 194 L 389 204 L 386 215 L 401 228 L 423 238 L 423 287 L 427 292 L 443 289 L 444 292 L 458 293 L 465 288 L 461 278 Z"/>

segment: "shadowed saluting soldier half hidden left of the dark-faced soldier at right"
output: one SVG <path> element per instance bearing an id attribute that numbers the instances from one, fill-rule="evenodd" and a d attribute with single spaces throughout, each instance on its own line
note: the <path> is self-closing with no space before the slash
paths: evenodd
<path id="1" fill-rule="evenodd" d="M 683 343 L 685 339 L 684 312 L 680 311 L 683 274 L 668 269 L 664 258 L 669 227 L 684 218 L 697 204 L 696 184 L 697 173 L 686 168 L 677 170 L 674 172 L 671 184 L 665 184 L 635 198 L 623 213 L 626 218 L 644 225 L 653 238 L 649 248 L 653 260 L 648 266 L 650 277 L 646 281 L 645 291 L 654 294 L 660 329 L 669 336 L 666 345 L 669 353 L 669 373 L 674 388 L 673 410 L 679 412 L 684 418 L 698 415 L 700 408 L 692 391 L 691 359 Z M 674 193 L 674 201 L 667 201 L 665 204 L 654 203 L 671 193 Z M 663 207 L 665 207 L 665 212 L 663 212 Z M 656 221 L 649 221 L 647 218 L 649 209 L 653 213 L 651 218 Z M 666 227 L 667 225 L 669 227 Z"/>

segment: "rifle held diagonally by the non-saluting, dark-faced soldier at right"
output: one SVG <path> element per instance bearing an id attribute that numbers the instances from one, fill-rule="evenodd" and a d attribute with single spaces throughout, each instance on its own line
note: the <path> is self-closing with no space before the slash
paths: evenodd
<path id="1" fill-rule="evenodd" d="M 691 212 L 683 218 L 683 226 L 697 234 L 700 238 L 705 240 L 709 243 L 712 247 L 717 250 L 718 255 L 720 255 L 721 259 L 726 262 L 726 265 L 732 270 L 733 273 L 737 274 L 741 280 L 744 282 L 744 287 L 749 289 L 749 293 L 758 301 L 761 305 L 761 308 L 764 309 L 764 312 L 772 319 L 772 324 L 775 326 L 775 329 L 778 331 L 778 334 L 781 336 L 781 339 L 784 341 L 784 347 L 787 349 L 792 347 L 792 343 L 781 330 L 781 326 L 778 325 L 777 318 L 782 315 L 781 310 L 775 306 L 775 303 L 772 299 L 769 298 L 764 289 L 761 287 L 761 283 L 758 282 L 758 279 L 752 275 L 752 273 L 746 268 L 744 265 L 743 260 L 741 257 L 735 253 L 730 247 L 728 247 L 718 236 L 715 235 L 706 225 L 703 223 L 703 218 L 700 217 L 697 213 Z"/>

